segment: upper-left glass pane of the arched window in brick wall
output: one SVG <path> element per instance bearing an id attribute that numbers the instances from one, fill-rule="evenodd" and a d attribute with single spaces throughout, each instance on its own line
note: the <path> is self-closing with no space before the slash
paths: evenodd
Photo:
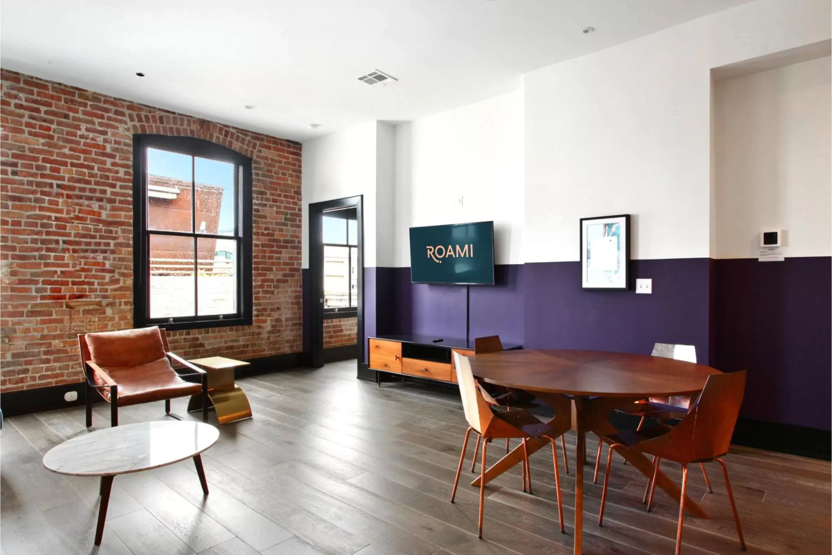
<path id="1" fill-rule="evenodd" d="M 147 149 L 147 229 L 191 231 L 191 181 L 191 156 Z"/>

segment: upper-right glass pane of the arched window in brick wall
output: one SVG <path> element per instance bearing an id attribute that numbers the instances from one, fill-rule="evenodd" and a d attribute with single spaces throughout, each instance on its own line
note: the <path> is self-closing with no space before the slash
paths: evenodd
<path id="1" fill-rule="evenodd" d="M 234 164 L 194 158 L 196 230 L 235 235 Z"/>

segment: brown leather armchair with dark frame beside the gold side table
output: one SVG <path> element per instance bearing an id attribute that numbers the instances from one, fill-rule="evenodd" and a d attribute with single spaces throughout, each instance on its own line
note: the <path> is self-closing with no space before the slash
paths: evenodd
<path id="1" fill-rule="evenodd" d="M 157 326 L 141 330 L 79 334 L 78 347 L 87 377 L 87 428 L 92 426 L 92 392 L 110 404 L 111 426 L 118 425 L 118 408 L 165 401 L 171 414 L 171 399 L 202 395 L 202 419 L 208 419 L 206 371 L 170 352 L 165 330 Z M 171 362 L 185 366 L 174 369 Z M 199 381 L 186 381 L 194 376 Z"/>

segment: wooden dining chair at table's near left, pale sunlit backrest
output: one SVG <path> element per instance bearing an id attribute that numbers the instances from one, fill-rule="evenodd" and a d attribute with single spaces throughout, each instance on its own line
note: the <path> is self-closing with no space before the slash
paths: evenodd
<path id="1" fill-rule="evenodd" d="M 562 432 L 557 432 L 557 430 L 552 429 L 551 426 L 541 422 L 534 414 L 524 409 L 498 412 L 483 397 L 483 391 L 477 386 L 476 380 L 471 372 L 471 363 L 468 357 L 454 352 L 453 362 L 456 367 L 459 394 L 463 400 L 465 419 L 468 420 L 468 430 L 465 432 L 462 453 L 459 454 L 457 475 L 453 479 L 451 503 L 453 503 L 453 499 L 457 495 L 459 474 L 462 473 L 463 463 L 465 461 L 465 450 L 468 448 L 468 437 L 472 431 L 478 434 L 479 439 L 483 440 L 483 459 L 480 463 L 479 482 L 479 538 L 483 538 L 483 505 L 485 502 L 485 468 L 487 466 L 486 453 L 488 451 L 488 444 L 493 439 L 517 438 L 522 440 L 524 451 L 522 461 L 523 491 L 526 490 L 526 485 L 528 485 L 528 491 L 531 493 L 532 477 L 529 473 L 526 442 L 528 439 L 547 438 L 552 442 L 552 463 L 555 469 L 555 488 L 557 489 L 557 518 L 561 525 L 561 532 L 565 533 L 563 528 L 563 508 L 561 504 L 561 478 L 557 473 L 557 448 L 555 446 L 555 439 L 557 439 L 558 435 L 562 435 Z"/>

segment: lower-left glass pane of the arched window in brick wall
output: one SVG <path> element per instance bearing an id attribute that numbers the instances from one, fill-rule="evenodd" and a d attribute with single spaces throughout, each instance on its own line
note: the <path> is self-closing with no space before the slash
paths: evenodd
<path id="1" fill-rule="evenodd" d="M 151 235 L 151 318 L 194 315 L 194 240 Z"/>

